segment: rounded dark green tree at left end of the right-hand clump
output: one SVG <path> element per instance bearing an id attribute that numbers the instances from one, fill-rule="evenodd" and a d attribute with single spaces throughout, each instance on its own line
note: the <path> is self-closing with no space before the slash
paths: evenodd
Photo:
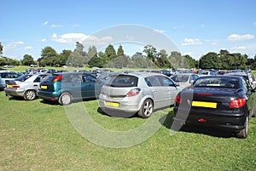
<path id="1" fill-rule="evenodd" d="M 219 69 L 221 67 L 221 60 L 215 52 L 203 55 L 199 62 L 199 67 L 202 69 Z"/>

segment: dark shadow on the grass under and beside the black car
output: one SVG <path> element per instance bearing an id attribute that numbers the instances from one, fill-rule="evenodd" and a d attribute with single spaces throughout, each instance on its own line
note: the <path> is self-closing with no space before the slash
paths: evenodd
<path id="1" fill-rule="evenodd" d="M 170 111 L 166 116 L 161 117 L 159 119 L 159 122 L 166 128 L 172 129 L 173 131 L 180 131 L 180 132 L 186 132 L 186 133 L 195 133 L 195 134 L 207 134 L 213 137 L 218 138 L 232 138 L 234 137 L 233 133 L 223 131 L 216 128 L 208 128 L 208 127 L 199 127 L 199 126 L 191 126 L 191 125 L 183 125 L 182 127 L 179 127 L 179 130 L 174 130 L 176 127 L 173 126 L 173 111 Z"/>

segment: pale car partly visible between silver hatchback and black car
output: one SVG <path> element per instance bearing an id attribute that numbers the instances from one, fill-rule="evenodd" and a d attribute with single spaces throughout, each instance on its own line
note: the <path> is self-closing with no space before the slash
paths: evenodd
<path id="1" fill-rule="evenodd" d="M 199 76 L 193 73 L 177 73 L 171 78 L 183 88 L 189 87 Z"/>

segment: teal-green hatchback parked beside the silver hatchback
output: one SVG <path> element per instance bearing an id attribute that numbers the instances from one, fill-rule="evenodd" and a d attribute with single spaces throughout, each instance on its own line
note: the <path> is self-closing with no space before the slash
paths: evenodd
<path id="1" fill-rule="evenodd" d="M 44 100 L 57 101 L 61 105 L 69 105 L 76 99 L 96 98 L 100 94 L 101 85 L 96 82 L 96 77 L 88 73 L 53 73 L 40 83 L 38 96 Z"/>

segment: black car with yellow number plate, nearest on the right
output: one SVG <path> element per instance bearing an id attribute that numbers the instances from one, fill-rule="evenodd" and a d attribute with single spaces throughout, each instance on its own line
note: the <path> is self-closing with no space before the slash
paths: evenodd
<path id="1" fill-rule="evenodd" d="M 255 100 L 255 89 L 241 77 L 199 77 L 177 94 L 174 124 L 218 128 L 246 138 Z"/>

